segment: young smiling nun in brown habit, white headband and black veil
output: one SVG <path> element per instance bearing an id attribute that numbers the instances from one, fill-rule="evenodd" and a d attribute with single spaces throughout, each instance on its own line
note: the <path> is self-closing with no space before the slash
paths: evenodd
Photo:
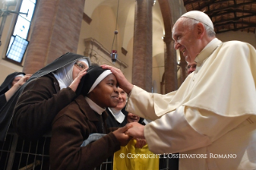
<path id="1" fill-rule="evenodd" d="M 91 66 L 81 79 L 79 96 L 56 115 L 52 123 L 50 162 L 52 169 L 93 169 L 128 144 L 128 126 L 80 147 L 93 133 L 106 133 L 105 107 L 118 103 L 117 82 L 110 70 Z"/>

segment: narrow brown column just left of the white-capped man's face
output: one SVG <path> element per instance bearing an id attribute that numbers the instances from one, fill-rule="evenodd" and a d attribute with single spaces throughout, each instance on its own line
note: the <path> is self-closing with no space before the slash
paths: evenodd
<path id="1" fill-rule="evenodd" d="M 165 93 L 177 90 L 177 55 L 171 35 L 165 34 Z"/>

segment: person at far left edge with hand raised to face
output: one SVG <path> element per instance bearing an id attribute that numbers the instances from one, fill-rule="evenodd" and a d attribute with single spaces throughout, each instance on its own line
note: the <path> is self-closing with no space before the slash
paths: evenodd
<path id="1" fill-rule="evenodd" d="M 9 99 L 18 91 L 31 75 L 26 75 L 23 72 L 14 72 L 7 75 L 6 79 L 0 86 L 0 110 L 9 101 Z"/>

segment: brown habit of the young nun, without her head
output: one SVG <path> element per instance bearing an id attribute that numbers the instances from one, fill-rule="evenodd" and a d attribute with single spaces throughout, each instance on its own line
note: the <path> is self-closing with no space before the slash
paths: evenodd
<path id="1" fill-rule="evenodd" d="M 93 111 L 83 95 L 59 111 L 52 123 L 51 169 L 94 169 L 120 150 L 120 142 L 112 132 L 80 147 L 90 134 L 106 131 L 107 116 L 105 111 L 102 115 Z"/>

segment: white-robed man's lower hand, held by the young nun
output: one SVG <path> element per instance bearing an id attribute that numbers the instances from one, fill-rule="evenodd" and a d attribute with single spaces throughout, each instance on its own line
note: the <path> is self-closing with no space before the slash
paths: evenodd
<path id="1" fill-rule="evenodd" d="M 137 122 L 128 123 L 128 125 L 130 124 L 132 124 L 132 127 L 125 134 L 134 138 L 145 139 L 144 126 Z"/>

